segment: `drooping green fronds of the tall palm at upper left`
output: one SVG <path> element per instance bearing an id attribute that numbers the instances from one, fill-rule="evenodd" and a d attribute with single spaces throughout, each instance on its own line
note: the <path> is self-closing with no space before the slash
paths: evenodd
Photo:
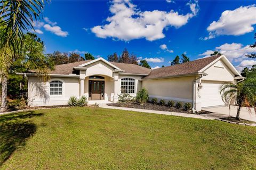
<path id="1" fill-rule="evenodd" d="M 12 49 L 12 58 L 20 54 L 20 43 L 26 31 L 34 29 L 33 22 L 37 20 L 44 7 L 43 0 L 9 1 L 0 3 L 1 43 L 0 50 Z"/>

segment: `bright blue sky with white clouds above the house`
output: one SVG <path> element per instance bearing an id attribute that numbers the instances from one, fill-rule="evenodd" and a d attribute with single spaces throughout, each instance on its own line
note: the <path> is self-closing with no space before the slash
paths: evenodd
<path id="1" fill-rule="evenodd" d="M 51 1 L 35 29 L 46 53 L 122 53 L 150 66 L 170 65 L 182 53 L 196 60 L 219 50 L 235 66 L 256 64 L 254 1 Z"/>

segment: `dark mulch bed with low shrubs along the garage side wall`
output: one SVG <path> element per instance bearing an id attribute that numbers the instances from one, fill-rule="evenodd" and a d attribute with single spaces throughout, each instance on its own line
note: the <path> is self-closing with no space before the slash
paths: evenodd
<path id="1" fill-rule="evenodd" d="M 180 113 L 194 114 L 192 111 L 185 111 L 182 108 L 154 105 L 152 103 L 145 103 L 142 106 L 139 103 L 135 103 L 135 102 L 111 103 L 111 104 L 107 104 L 107 105 L 108 106 L 116 106 L 116 107 L 148 109 L 148 110 L 154 110 L 154 111 L 180 112 Z M 211 113 L 211 112 L 201 111 L 201 112 L 197 112 L 195 114 L 208 114 L 208 113 Z"/>

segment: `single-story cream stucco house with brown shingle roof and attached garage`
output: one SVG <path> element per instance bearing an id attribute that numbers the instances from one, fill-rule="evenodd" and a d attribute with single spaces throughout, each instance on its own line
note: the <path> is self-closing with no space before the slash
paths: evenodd
<path id="1" fill-rule="evenodd" d="M 151 70 L 103 58 L 56 65 L 45 83 L 33 72 L 28 77 L 30 106 L 67 105 L 70 96 L 87 96 L 89 103 L 118 101 L 122 93 L 136 96 L 146 88 L 150 98 L 191 103 L 195 111 L 225 105 L 222 84 L 243 79 L 225 55 Z"/>

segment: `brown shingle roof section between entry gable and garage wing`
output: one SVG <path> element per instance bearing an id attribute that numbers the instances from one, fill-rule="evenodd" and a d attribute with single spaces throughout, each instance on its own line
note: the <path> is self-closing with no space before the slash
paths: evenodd
<path id="1" fill-rule="evenodd" d="M 114 64 L 119 69 L 124 70 L 124 73 L 130 73 L 130 74 L 149 74 L 152 70 L 147 69 L 146 67 L 142 67 L 135 64 L 125 64 L 125 63 L 115 63 L 110 62 L 111 64 Z"/>

